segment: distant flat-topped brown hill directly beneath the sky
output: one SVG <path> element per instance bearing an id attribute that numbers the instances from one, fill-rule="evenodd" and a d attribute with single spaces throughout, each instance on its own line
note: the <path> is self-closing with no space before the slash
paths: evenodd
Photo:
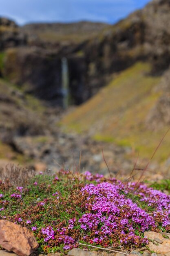
<path id="1" fill-rule="evenodd" d="M 80 43 L 110 27 L 110 25 L 100 22 L 74 22 L 74 23 L 32 23 L 20 28 L 26 33 L 29 40 L 37 38 L 43 42 Z"/>

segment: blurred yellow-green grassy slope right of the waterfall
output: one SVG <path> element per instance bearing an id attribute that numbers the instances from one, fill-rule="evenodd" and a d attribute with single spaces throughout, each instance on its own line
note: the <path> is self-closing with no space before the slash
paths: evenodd
<path id="1" fill-rule="evenodd" d="M 132 146 L 142 157 L 150 157 L 168 127 L 153 132 L 146 128 L 146 117 L 160 96 L 153 88 L 160 77 L 149 75 L 150 65 L 137 63 L 119 74 L 88 102 L 62 119 L 68 131 L 90 132 L 100 141 Z M 170 135 L 155 157 L 169 157 Z"/>

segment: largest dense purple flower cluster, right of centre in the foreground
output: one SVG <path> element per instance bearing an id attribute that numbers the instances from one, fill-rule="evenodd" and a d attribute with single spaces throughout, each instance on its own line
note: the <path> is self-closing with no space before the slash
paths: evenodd
<path id="1" fill-rule="evenodd" d="M 136 244 L 139 237 L 135 230 L 144 232 L 155 226 L 154 218 L 120 194 L 119 188 L 119 184 L 102 182 L 96 186 L 88 184 L 81 190 L 82 195 L 86 195 L 88 213 L 79 222 L 86 233 L 95 233 L 91 243 L 101 244 L 112 238 L 112 234 L 120 233 L 123 235 L 121 243 Z M 89 241 L 89 236 L 85 235 L 84 240 Z M 140 243 L 146 243 L 146 239 L 140 238 Z"/>

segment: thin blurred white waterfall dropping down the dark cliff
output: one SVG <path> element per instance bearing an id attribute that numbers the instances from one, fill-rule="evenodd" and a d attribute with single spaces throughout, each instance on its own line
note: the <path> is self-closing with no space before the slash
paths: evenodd
<path id="1" fill-rule="evenodd" d="M 68 74 L 68 60 L 62 58 L 62 94 L 63 94 L 63 108 L 68 108 L 69 104 L 69 74 Z"/>

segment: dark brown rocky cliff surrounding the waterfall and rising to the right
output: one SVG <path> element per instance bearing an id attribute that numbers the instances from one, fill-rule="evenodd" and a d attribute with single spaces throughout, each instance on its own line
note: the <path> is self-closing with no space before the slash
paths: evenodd
<path id="1" fill-rule="evenodd" d="M 37 97 L 61 104 L 61 60 L 66 57 L 70 96 L 73 103 L 80 104 L 106 85 L 111 74 L 136 61 L 149 61 L 152 73 L 162 74 L 170 64 L 169 15 L 169 0 L 154 0 L 116 25 L 99 26 L 98 35 L 91 39 L 82 37 L 76 42 L 67 38 L 54 42 L 50 37 L 48 40 L 39 37 L 29 47 L 17 47 L 4 54 L 3 74 Z M 84 27 L 84 23 L 82 25 Z M 81 23 L 77 26 L 81 30 Z M 54 31 L 54 27 L 51 26 L 50 31 Z M 47 28 L 42 26 L 40 32 L 47 32 Z M 32 29 L 34 34 L 38 33 L 36 26 L 32 25 Z M 31 25 L 28 30 L 30 34 Z M 58 30 L 61 35 L 61 29 Z M 23 40 L 20 42 L 24 44 Z"/>

